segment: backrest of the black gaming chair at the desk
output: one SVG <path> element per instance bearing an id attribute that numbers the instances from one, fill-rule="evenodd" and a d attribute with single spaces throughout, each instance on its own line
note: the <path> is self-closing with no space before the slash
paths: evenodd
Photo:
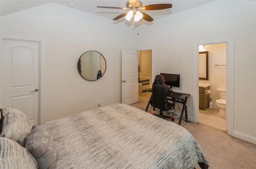
<path id="1" fill-rule="evenodd" d="M 170 91 L 170 87 L 164 83 L 163 75 L 156 75 L 152 84 L 152 99 L 151 105 L 162 111 L 166 111 L 170 105 L 167 99 L 167 93 Z"/>

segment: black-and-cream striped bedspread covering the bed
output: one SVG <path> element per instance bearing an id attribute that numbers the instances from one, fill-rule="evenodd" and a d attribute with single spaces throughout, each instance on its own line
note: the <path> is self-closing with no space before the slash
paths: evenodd
<path id="1" fill-rule="evenodd" d="M 209 165 L 186 129 L 126 104 L 88 110 L 42 127 L 56 146 L 55 169 L 194 169 L 198 162 Z"/>

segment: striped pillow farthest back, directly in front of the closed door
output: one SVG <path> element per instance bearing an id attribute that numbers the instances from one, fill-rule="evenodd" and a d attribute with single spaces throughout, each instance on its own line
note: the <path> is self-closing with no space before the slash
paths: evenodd
<path id="1" fill-rule="evenodd" d="M 22 147 L 33 123 L 22 111 L 15 108 L 1 108 L 1 137 L 16 141 Z"/>

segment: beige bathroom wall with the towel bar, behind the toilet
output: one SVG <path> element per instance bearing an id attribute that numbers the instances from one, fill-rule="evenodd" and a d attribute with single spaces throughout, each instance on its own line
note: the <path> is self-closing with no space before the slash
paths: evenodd
<path id="1" fill-rule="evenodd" d="M 226 43 L 205 45 L 200 51 L 209 51 L 209 81 L 199 81 L 199 83 L 210 84 L 210 98 L 212 98 L 213 108 L 218 109 L 215 101 L 219 99 L 217 88 L 226 89 Z"/>

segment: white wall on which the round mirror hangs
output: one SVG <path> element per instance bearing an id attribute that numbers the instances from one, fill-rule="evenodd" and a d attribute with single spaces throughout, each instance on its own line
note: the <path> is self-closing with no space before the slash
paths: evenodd
<path id="1" fill-rule="evenodd" d="M 1 33 L 45 38 L 46 122 L 98 108 L 98 101 L 121 102 L 121 49 L 134 49 L 127 29 L 55 3 L 1 17 Z M 77 69 L 80 56 L 91 50 L 106 59 L 106 72 L 97 81 L 86 81 Z"/>

